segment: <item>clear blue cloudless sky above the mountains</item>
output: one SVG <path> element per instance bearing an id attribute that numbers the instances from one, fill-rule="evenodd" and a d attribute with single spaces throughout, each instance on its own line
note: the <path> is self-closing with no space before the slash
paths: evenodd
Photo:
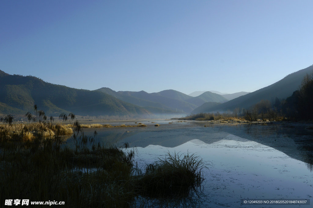
<path id="1" fill-rule="evenodd" d="M 313 64 L 313 1 L 12 1 L 0 69 L 78 89 L 255 91 Z"/>

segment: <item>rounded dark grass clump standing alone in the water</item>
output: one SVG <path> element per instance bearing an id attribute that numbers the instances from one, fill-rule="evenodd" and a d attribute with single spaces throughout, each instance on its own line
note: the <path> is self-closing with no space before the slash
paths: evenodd
<path id="1" fill-rule="evenodd" d="M 203 182 L 203 169 L 211 165 L 195 154 L 170 154 L 147 165 L 139 177 L 141 194 L 148 197 L 188 195 Z"/>

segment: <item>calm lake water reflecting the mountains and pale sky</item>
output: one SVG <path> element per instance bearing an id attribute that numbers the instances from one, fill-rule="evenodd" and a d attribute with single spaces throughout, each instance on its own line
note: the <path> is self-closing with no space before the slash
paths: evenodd
<path id="1" fill-rule="evenodd" d="M 198 197 L 201 203 L 196 207 L 284 207 L 241 205 L 241 199 L 310 199 L 310 205 L 285 206 L 313 207 L 312 130 L 297 123 L 176 121 L 137 120 L 147 127 L 85 128 L 84 132 L 92 136 L 96 130 L 97 141 L 103 144 L 128 142 L 130 148 L 136 147 L 139 168 L 165 157 L 168 151 L 196 153 L 212 162 L 203 172 L 206 180 Z M 135 125 L 134 122 L 101 124 Z M 154 126 L 156 123 L 160 126 Z M 67 143 L 71 145 L 71 140 Z M 188 206 L 193 205 L 182 205 Z"/>

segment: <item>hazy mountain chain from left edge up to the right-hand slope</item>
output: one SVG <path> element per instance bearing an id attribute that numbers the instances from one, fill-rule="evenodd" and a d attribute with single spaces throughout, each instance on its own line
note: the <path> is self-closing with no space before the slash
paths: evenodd
<path id="1" fill-rule="evenodd" d="M 152 118 L 159 114 L 187 114 L 205 102 L 228 99 L 211 92 L 197 97 L 175 90 L 115 92 L 109 88 L 85 90 L 44 82 L 33 76 L 10 75 L 0 70 L 0 114 L 33 112 L 37 104 L 47 115 L 74 112 L 79 115 Z"/>

